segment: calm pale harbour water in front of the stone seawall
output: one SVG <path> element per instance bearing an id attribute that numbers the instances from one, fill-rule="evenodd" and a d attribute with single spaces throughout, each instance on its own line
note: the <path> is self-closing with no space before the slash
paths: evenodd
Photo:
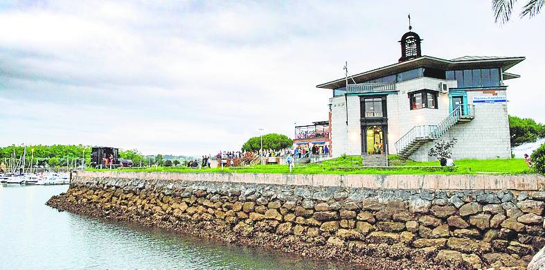
<path id="1" fill-rule="evenodd" d="M 0 186 L 0 269 L 346 269 L 45 205 L 68 186 Z"/>

